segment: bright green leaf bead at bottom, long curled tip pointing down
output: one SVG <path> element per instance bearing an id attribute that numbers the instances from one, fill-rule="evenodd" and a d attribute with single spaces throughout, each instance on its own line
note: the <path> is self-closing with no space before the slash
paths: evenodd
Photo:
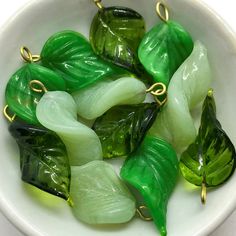
<path id="1" fill-rule="evenodd" d="M 165 236 L 167 203 L 178 176 L 174 149 L 160 138 L 146 136 L 125 161 L 120 174 L 143 196 L 154 223 Z"/>

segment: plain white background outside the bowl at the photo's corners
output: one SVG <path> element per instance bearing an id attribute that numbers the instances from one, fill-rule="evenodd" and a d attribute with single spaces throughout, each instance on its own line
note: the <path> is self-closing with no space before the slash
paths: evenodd
<path id="1" fill-rule="evenodd" d="M 0 27 L 7 21 L 7 19 L 14 14 L 14 12 L 30 0 L 7 0 L 0 1 Z M 47 1 L 47 0 L 45 0 Z M 143 0 L 142 0 L 143 1 Z M 181 0 L 179 0 L 181 1 Z M 198 0 L 195 0 L 198 1 Z M 236 32 L 236 14 L 234 1 L 232 0 L 202 0 L 212 7 L 218 14 L 225 19 L 225 21 Z M 236 43 L 236 42 L 235 42 Z M 220 204 L 220 203 L 219 203 Z M 236 211 L 210 236 L 234 236 L 236 235 Z M 0 213 L 0 236 L 22 236 L 22 234 L 9 223 L 5 217 Z"/>

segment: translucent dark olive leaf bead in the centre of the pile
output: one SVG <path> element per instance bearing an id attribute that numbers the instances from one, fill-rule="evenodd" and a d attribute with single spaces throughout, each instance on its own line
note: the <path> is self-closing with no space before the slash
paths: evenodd
<path id="1" fill-rule="evenodd" d="M 141 143 L 154 122 L 156 103 L 116 106 L 99 117 L 93 129 L 98 135 L 104 158 L 126 156 Z"/>

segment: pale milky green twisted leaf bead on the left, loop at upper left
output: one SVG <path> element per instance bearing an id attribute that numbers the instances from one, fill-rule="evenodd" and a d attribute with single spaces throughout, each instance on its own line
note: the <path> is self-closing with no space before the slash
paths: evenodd
<path id="1" fill-rule="evenodd" d="M 76 104 L 66 92 L 47 92 L 36 109 L 39 122 L 56 132 L 64 142 L 70 165 L 83 165 L 102 159 L 102 147 L 96 133 L 77 121 Z"/>

